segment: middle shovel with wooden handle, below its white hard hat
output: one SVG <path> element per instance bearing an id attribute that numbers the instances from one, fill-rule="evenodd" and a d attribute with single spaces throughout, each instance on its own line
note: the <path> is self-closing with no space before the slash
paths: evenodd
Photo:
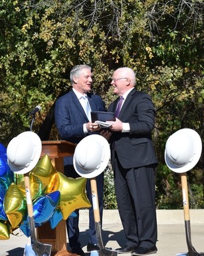
<path id="1" fill-rule="evenodd" d="M 98 193 L 97 193 L 97 185 L 96 185 L 96 178 L 90 179 L 90 185 L 92 190 L 92 205 L 94 209 L 94 221 L 96 227 L 96 237 L 98 241 L 98 245 L 100 247 L 99 251 L 92 251 L 91 256 L 117 256 L 118 251 L 113 251 L 110 249 L 106 249 L 104 247 L 102 241 L 102 233 L 101 233 L 101 222 L 100 222 L 100 212 L 99 212 L 99 205 L 98 205 Z"/>

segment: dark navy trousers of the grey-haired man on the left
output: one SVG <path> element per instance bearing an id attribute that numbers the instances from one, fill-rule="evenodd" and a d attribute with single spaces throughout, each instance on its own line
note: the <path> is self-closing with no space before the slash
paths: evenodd
<path id="1" fill-rule="evenodd" d="M 80 177 L 78 173 L 74 170 L 73 165 L 64 165 L 64 174 L 67 177 L 77 178 Z M 102 211 L 103 211 L 103 193 L 104 193 L 104 173 L 102 172 L 100 175 L 96 177 L 97 183 L 97 191 L 98 191 L 98 204 L 100 208 L 100 219 L 102 224 Z M 86 181 L 86 195 L 88 200 L 92 204 L 92 195 L 90 188 L 90 179 Z M 76 213 L 76 217 L 70 217 L 66 220 L 66 229 L 68 233 L 68 241 L 71 248 L 80 247 L 79 241 L 79 210 L 74 211 Z M 96 229 L 95 229 L 95 221 L 94 221 L 94 211 L 93 207 L 89 208 L 89 240 L 88 243 L 98 243 L 96 238 Z"/>

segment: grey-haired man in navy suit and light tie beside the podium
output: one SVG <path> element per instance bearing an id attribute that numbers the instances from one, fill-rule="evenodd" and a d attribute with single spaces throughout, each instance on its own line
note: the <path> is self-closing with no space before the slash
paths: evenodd
<path id="1" fill-rule="evenodd" d="M 90 111 L 106 110 L 101 97 L 89 93 L 92 86 L 92 72 L 88 65 L 76 65 L 70 71 L 70 81 L 72 83 L 72 90 L 57 99 L 54 117 L 60 138 L 72 143 L 78 143 L 84 137 L 99 130 L 98 125 L 92 123 L 90 117 L 88 117 Z M 88 102 L 86 101 L 87 99 Z M 64 157 L 64 174 L 68 177 L 79 177 L 73 167 L 73 157 Z M 96 177 L 96 182 L 100 205 L 100 219 L 102 220 L 104 173 Z M 89 201 L 92 203 L 89 179 L 86 181 L 86 193 Z M 78 210 L 75 213 L 77 217 L 70 217 L 66 220 L 69 245 L 72 253 L 84 255 L 79 241 Z M 89 233 L 87 251 L 98 250 L 92 207 L 89 209 Z"/>

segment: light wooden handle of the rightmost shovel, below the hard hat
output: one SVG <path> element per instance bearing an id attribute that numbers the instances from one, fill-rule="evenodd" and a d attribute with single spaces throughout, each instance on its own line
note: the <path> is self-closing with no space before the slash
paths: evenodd
<path id="1" fill-rule="evenodd" d="M 183 195 L 183 211 L 185 221 L 190 220 L 189 213 L 189 195 L 187 189 L 187 175 L 186 173 L 181 173 L 181 186 L 182 186 L 182 195 Z"/>

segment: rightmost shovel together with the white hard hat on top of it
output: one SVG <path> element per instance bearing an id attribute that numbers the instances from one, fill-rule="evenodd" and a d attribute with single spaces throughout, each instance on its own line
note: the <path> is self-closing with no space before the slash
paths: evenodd
<path id="1" fill-rule="evenodd" d="M 193 129 L 183 128 L 171 135 L 165 144 L 165 163 L 171 171 L 181 173 L 181 187 L 183 195 L 183 211 L 185 220 L 185 237 L 188 253 L 177 253 L 177 256 L 204 256 L 195 251 L 191 243 L 191 225 L 189 214 L 189 197 L 187 190 L 186 172 L 191 170 L 199 161 L 202 152 L 202 141 Z"/>

